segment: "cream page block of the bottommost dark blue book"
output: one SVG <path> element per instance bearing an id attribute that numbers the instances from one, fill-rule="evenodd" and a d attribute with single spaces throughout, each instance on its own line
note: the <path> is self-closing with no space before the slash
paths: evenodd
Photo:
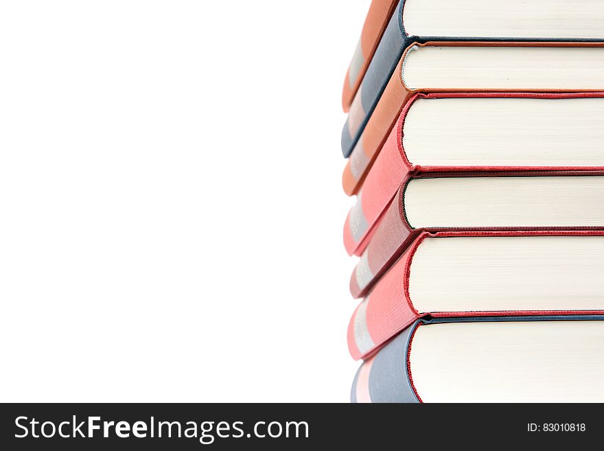
<path id="1" fill-rule="evenodd" d="M 423 402 L 604 402 L 604 321 L 423 325 L 409 362 Z"/>

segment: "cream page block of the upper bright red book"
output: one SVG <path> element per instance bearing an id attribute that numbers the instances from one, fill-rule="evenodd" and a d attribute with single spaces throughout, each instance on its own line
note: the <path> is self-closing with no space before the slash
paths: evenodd
<path id="1" fill-rule="evenodd" d="M 403 148 L 417 165 L 604 166 L 604 98 L 420 98 Z"/>

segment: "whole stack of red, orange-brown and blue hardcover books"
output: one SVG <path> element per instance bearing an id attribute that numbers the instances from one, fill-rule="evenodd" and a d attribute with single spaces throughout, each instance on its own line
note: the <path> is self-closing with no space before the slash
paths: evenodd
<path id="1" fill-rule="evenodd" d="M 353 402 L 604 402 L 604 2 L 373 0 L 342 96 Z"/>

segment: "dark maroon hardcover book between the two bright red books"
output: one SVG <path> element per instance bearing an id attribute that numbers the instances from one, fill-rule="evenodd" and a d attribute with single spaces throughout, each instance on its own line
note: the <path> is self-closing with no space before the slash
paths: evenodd
<path id="1" fill-rule="evenodd" d="M 572 174 L 408 177 L 369 235 L 351 277 L 353 294 L 362 294 L 423 231 L 604 229 L 604 176 Z"/>

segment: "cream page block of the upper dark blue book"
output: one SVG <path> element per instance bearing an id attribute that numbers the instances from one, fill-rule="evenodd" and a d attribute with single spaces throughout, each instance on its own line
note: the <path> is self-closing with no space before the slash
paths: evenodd
<path id="1" fill-rule="evenodd" d="M 603 38 L 601 0 L 406 0 L 410 36 Z"/>

